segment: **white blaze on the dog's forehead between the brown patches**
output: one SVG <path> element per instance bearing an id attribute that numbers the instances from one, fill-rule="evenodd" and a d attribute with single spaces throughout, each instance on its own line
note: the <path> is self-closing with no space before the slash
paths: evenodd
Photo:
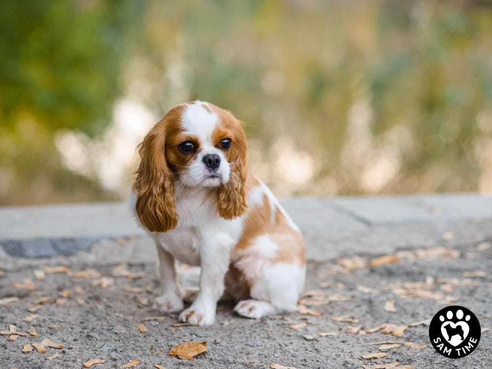
<path id="1" fill-rule="evenodd" d="M 187 104 L 181 119 L 186 133 L 198 136 L 202 145 L 212 143 L 212 132 L 219 117 L 208 103 L 195 101 L 194 104 Z"/>

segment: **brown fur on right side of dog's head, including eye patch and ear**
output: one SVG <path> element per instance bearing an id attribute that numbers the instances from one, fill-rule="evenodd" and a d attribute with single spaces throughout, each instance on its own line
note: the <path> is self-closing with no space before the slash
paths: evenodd
<path id="1" fill-rule="evenodd" d="M 217 213 L 225 219 L 233 219 L 246 213 L 246 179 L 247 179 L 247 141 L 246 134 L 239 122 L 230 112 L 211 105 L 219 116 L 219 123 L 212 132 L 212 140 L 216 147 L 220 141 L 229 138 L 230 149 L 224 151 L 231 165 L 229 182 L 222 184 L 217 190 Z"/>

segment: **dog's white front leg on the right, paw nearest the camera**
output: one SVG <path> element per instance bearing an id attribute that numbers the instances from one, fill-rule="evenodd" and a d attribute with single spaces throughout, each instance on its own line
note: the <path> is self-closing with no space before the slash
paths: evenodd
<path id="1" fill-rule="evenodd" d="M 200 291 L 180 320 L 191 324 L 210 325 L 215 322 L 217 301 L 224 292 L 224 276 L 229 268 L 229 255 L 234 242 L 229 236 L 204 234 L 200 246 Z"/>

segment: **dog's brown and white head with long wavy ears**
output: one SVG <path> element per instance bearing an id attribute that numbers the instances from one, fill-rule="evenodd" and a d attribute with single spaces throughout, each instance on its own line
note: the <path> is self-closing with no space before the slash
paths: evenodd
<path id="1" fill-rule="evenodd" d="M 176 228 L 175 187 L 208 187 L 217 213 L 246 212 L 246 135 L 230 112 L 201 101 L 172 108 L 140 144 L 136 213 L 153 232 Z"/>

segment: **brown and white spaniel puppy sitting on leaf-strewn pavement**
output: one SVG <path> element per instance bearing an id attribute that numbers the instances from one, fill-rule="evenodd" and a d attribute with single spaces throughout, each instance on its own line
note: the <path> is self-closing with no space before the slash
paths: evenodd
<path id="1" fill-rule="evenodd" d="M 157 246 L 161 312 L 182 311 L 175 259 L 200 266 L 180 321 L 210 325 L 219 298 L 248 318 L 296 309 L 306 258 L 299 228 L 247 173 L 246 135 L 230 112 L 192 101 L 172 108 L 140 144 L 135 212 Z"/>

